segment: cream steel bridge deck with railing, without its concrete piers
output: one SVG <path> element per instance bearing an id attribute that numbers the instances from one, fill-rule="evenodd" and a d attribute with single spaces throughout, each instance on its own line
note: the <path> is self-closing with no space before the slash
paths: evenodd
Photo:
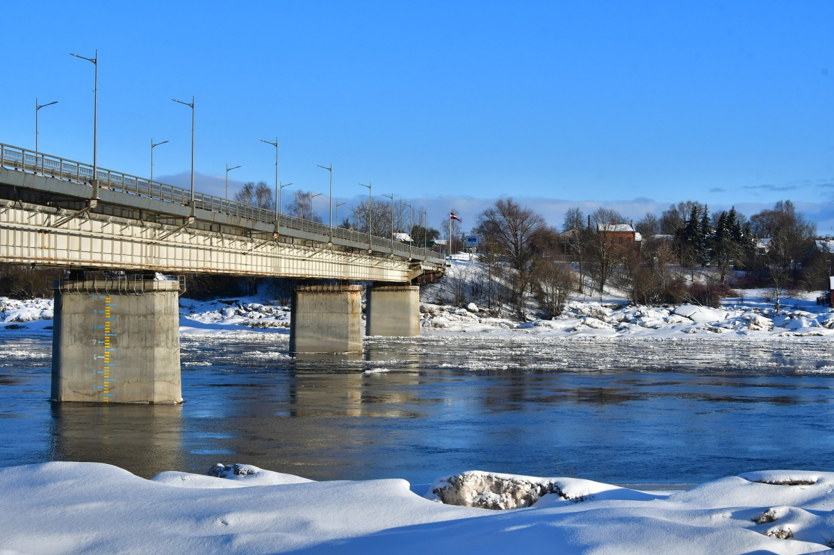
<path id="1" fill-rule="evenodd" d="M 0 262 L 406 282 L 437 253 L 0 143 Z M 97 194 L 98 193 L 98 198 Z"/>

